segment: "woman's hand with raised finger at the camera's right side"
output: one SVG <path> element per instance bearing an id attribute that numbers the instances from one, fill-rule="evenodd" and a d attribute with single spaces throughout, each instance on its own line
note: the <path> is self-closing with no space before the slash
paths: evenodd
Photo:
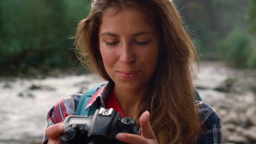
<path id="1" fill-rule="evenodd" d="M 117 139 L 121 142 L 129 144 L 156 144 L 154 131 L 149 123 L 149 112 L 146 111 L 142 113 L 141 118 L 139 119 L 139 124 L 141 125 L 141 135 L 128 134 L 128 133 L 119 133 Z"/>

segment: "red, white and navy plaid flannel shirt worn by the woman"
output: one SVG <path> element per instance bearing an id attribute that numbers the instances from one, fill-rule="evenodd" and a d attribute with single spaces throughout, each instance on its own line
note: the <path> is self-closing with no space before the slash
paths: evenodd
<path id="1" fill-rule="evenodd" d="M 113 86 L 110 83 L 102 86 L 92 95 L 85 109 L 88 109 L 96 100 L 100 100 L 103 107 L 106 106 L 108 96 Z M 75 110 L 82 95 L 73 94 L 61 99 L 55 104 L 47 114 L 46 128 L 56 123 L 61 123 L 65 117 L 75 114 Z M 199 115 L 201 117 L 201 135 L 197 139 L 197 143 L 224 143 L 222 134 L 222 122 L 217 112 L 203 101 L 197 101 L 197 105 L 201 105 Z M 44 135 L 42 144 L 48 142 L 48 137 Z"/>

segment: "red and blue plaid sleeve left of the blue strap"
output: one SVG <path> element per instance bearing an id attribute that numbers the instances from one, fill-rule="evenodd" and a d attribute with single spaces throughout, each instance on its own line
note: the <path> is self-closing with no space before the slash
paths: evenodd
<path id="1" fill-rule="evenodd" d="M 61 123 L 67 116 L 74 115 L 81 96 L 77 94 L 70 95 L 56 103 L 47 114 L 45 129 L 56 123 Z M 47 142 L 48 137 L 44 133 L 42 144 Z"/>

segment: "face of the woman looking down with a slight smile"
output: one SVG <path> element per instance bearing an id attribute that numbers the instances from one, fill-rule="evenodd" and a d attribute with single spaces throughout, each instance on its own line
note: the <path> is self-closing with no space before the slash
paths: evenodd
<path id="1" fill-rule="evenodd" d="M 102 16 L 99 45 L 115 87 L 136 91 L 148 85 L 158 63 L 159 34 L 139 9 L 109 8 Z"/>

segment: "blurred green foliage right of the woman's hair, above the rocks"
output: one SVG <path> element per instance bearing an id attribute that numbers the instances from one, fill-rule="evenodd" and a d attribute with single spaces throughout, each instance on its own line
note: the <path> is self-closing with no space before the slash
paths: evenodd
<path id="1" fill-rule="evenodd" d="M 256 0 L 174 0 L 174 3 L 193 32 L 191 36 L 201 59 L 217 52 L 217 57 L 234 67 L 256 68 L 256 44 L 253 44 L 256 40 L 247 33 L 251 26 L 250 32 L 256 34 Z"/>

